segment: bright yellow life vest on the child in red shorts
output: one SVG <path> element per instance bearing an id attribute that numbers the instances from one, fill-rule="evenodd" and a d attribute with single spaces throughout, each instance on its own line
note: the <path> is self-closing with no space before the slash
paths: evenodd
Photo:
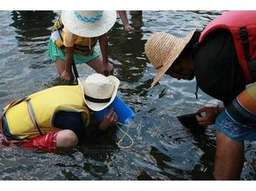
<path id="1" fill-rule="evenodd" d="M 9 136 L 24 140 L 59 129 L 52 124 L 59 110 L 81 113 L 84 126 L 88 126 L 90 114 L 84 104 L 81 85 L 44 89 L 17 101 L 13 106 L 6 106 L 3 112 Z"/>

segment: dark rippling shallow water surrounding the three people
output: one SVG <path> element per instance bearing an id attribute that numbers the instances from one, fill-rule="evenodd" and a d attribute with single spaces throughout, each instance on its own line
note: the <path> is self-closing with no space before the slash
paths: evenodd
<path id="1" fill-rule="evenodd" d="M 122 133 L 111 131 L 95 144 L 60 150 L 56 154 L 23 148 L 1 148 L 0 180 L 212 180 L 215 153 L 214 128 L 185 128 L 177 115 L 192 113 L 219 102 L 199 90 L 195 81 L 164 76 L 150 89 L 155 75 L 144 44 L 152 33 L 185 36 L 221 11 L 143 11 L 131 17 L 133 34 L 120 19 L 109 32 L 109 56 L 121 81 L 119 96 L 134 109 L 134 120 L 125 128 L 134 140 L 128 149 L 117 147 Z M 59 11 L 0 11 L 0 107 L 58 83 L 55 64 L 47 56 L 51 25 Z M 44 19 L 42 19 L 44 18 Z M 81 64 L 79 75 L 92 70 Z M 125 139 L 123 145 L 129 145 Z M 255 180 L 255 143 L 246 143 L 243 180 Z"/>

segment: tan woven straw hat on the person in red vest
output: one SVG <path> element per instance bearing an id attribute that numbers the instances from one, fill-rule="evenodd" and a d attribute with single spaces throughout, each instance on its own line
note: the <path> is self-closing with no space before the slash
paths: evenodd
<path id="1" fill-rule="evenodd" d="M 189 43 L 196 29 L 187 36 L 179 38 L 165 32 L 153 34 L 145 43 L 145 55 L 157 69 L 157 75 L 152 82 L 152 87 L 160 80 L 165 72 L 172 66 L 178 58 L 185 45 Z"/>

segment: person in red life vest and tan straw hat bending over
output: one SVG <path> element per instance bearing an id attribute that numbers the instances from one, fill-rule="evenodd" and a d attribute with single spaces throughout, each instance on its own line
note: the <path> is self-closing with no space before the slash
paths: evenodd
<path id="1" fill-rule="evenodd" d="M 197 115 L 200 125 L 214 124 L 216 155 L 214 177 L 239 180 L 244 141 L 256 140 L 256 11 L 228 11 L 199 33 L 181 38 L 160 32 L 145 43 L 145 54 L 157 75 L 178 79 L 196 77 L 197 89 L 219 99 L 225 108 L 206 107 Z M 197 92 L 196 92 L 197 95 Z"/>

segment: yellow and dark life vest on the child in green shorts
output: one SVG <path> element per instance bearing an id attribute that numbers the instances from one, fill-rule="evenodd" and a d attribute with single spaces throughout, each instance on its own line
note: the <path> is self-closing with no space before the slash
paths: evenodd
<path id="1" fill-rule="evenodd" d="M 63 41 L 63 29 L 64 29 L 64 24 L 62 23 L 61 17 L 59 17 L 57 22 L 53 25 L 52 30 L 58 31 L 59 37 L 54 43 L 60 49 L 65 48 L 64 41 Z M 91 55 L 93 53 L 94 47 L 97 42 L 98 42 L 98 37 L 76 36 L 75 42 L 74 42 L 74 53 L 78 55 L 83 55 L 83 56 Z"/>

